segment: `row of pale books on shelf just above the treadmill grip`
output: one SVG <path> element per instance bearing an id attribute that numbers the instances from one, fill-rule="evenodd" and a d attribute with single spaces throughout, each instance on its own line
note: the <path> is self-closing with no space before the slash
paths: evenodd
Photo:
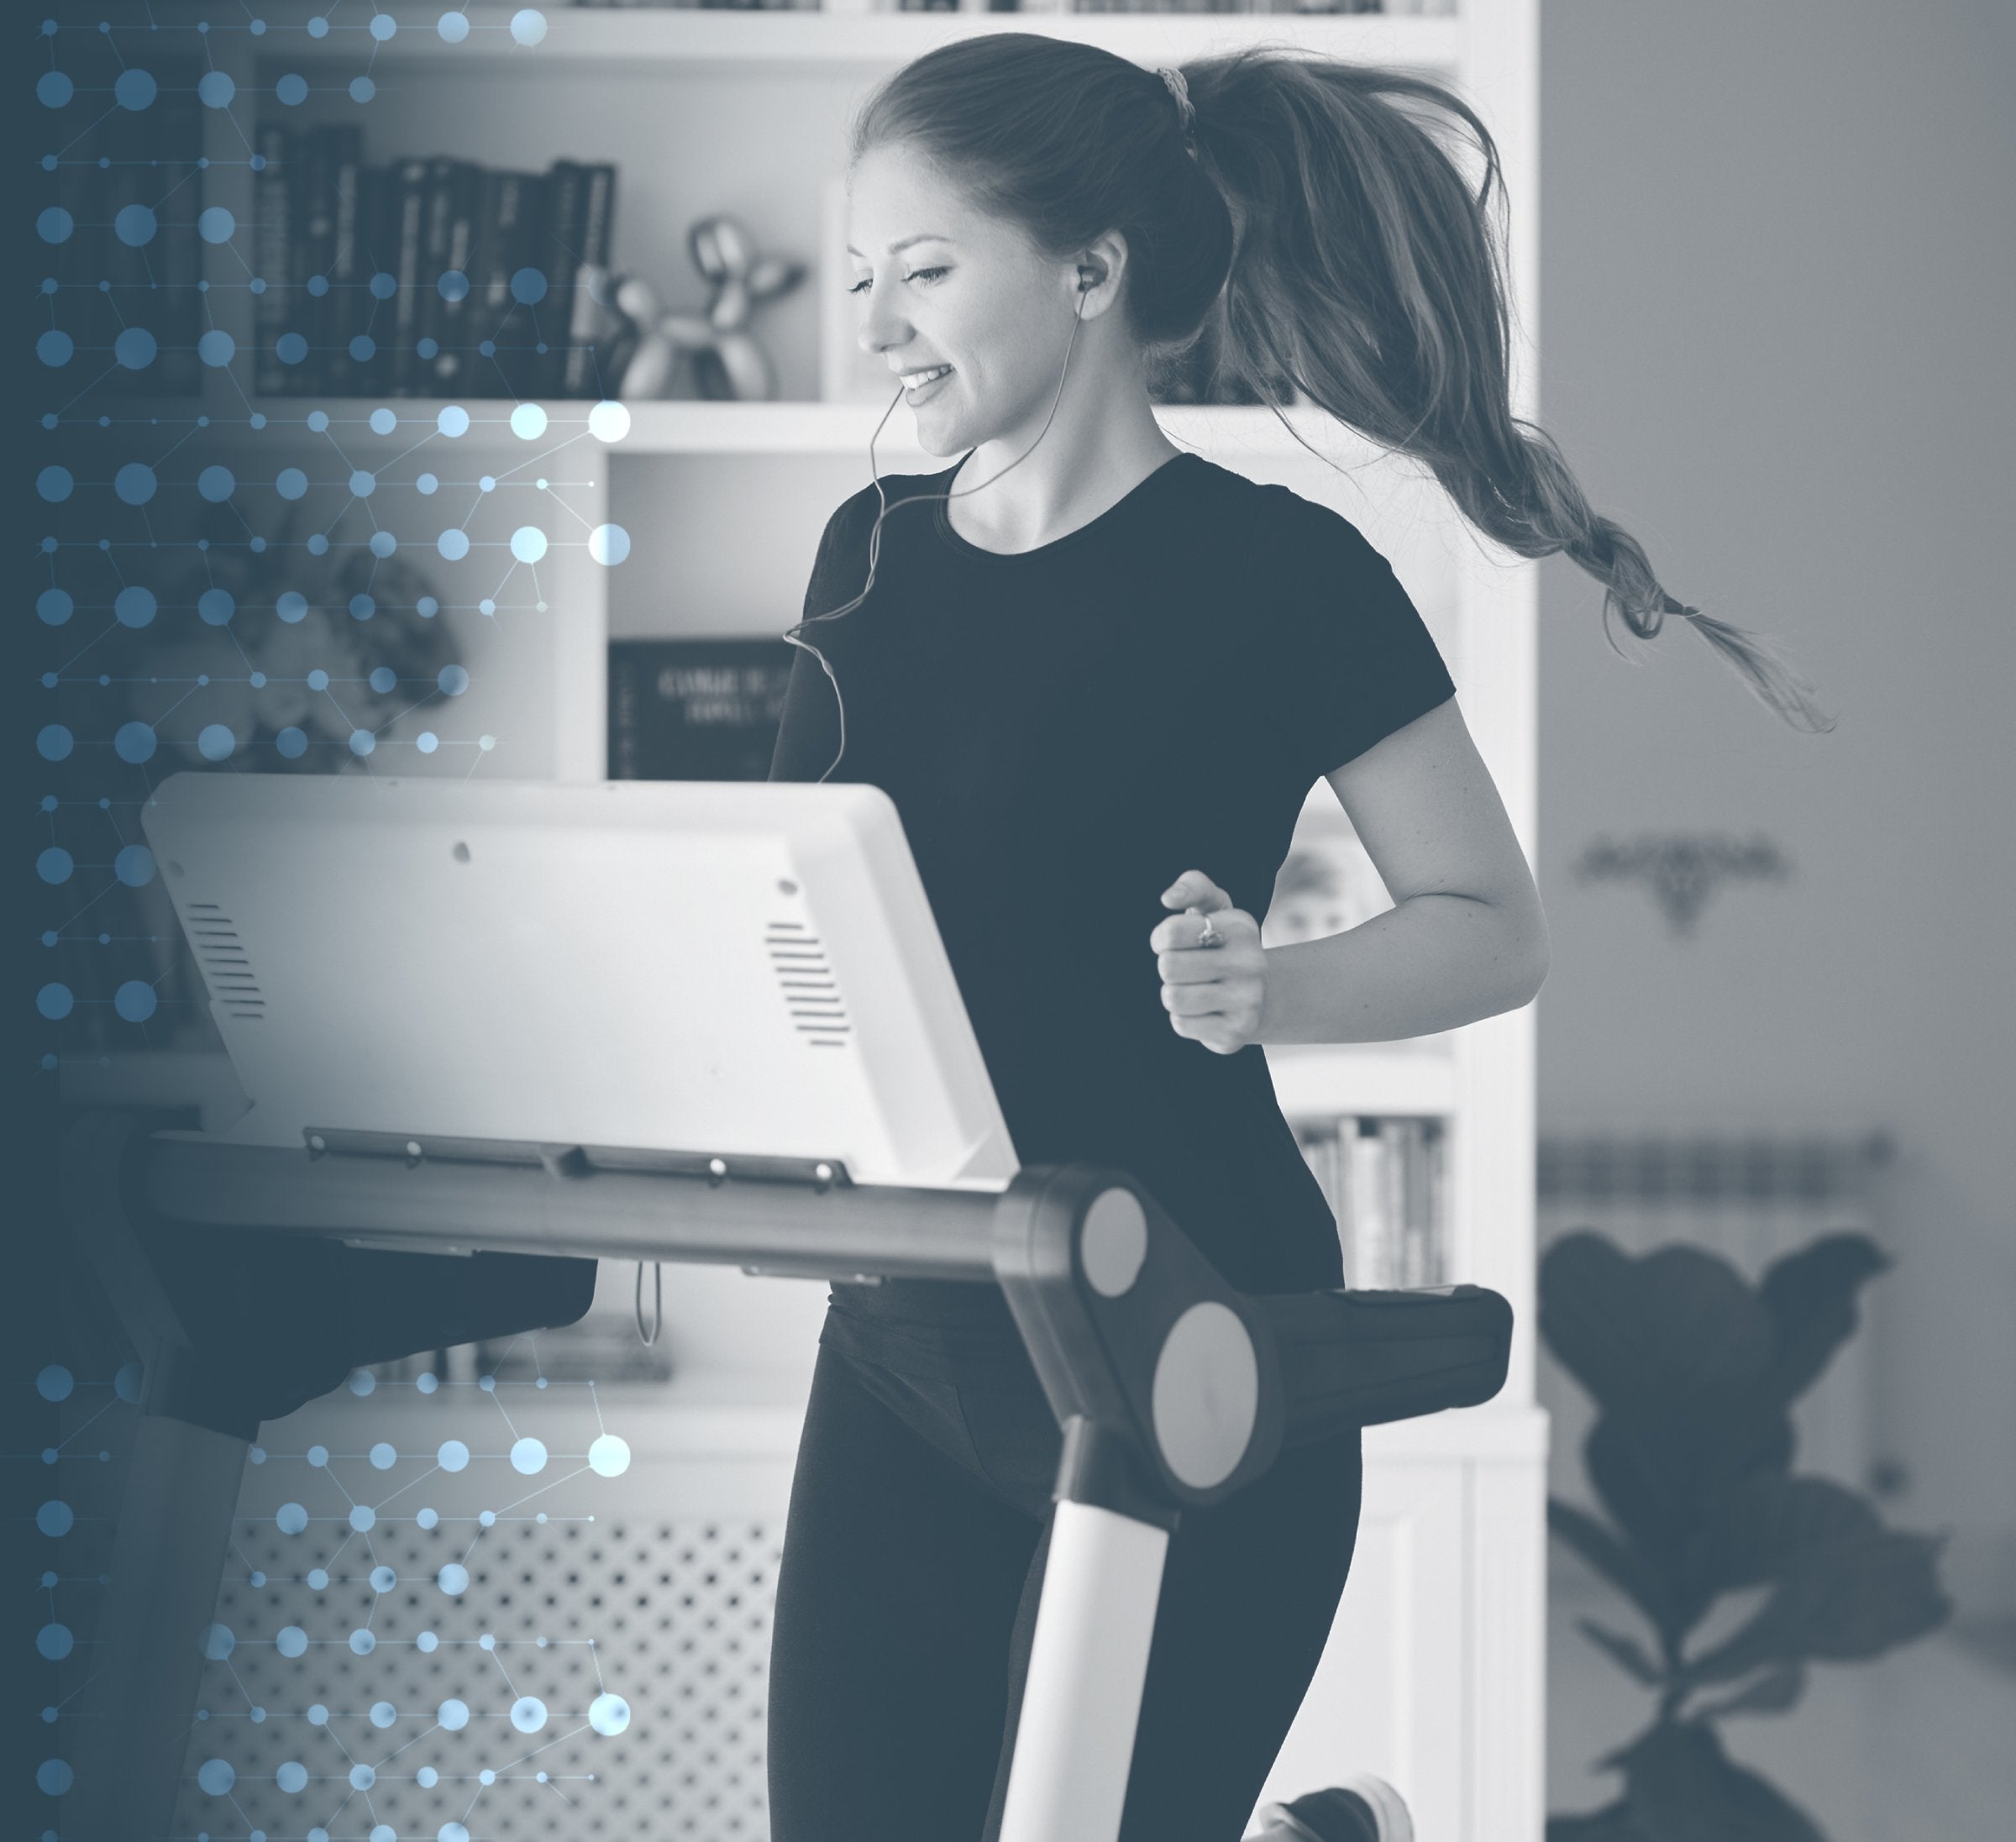
<path id="1" fill-rule="evenodd" d="M 1347 1286 L 1391 1292 L 1447 1284 L 1450 1135 L 1441 1119 L 1300 1121 L 1296 1143 L 1337 1213 Z"/>

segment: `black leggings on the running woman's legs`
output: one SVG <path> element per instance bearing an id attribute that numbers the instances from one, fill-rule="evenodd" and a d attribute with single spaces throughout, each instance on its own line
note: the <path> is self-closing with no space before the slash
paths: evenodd
<path id="1" fill-rule="evenodd" d="M 772 1842 L 996 1842 L 1062 1435 L 1026 1385 L 823 1344 L 770 1642 Z M 1121 1842 L 1238 1842 L 1331 1634 L 1359 1435 L 1169 1538 Z M 1312 1790 L 1312 1788 L 1308 1788 Z"/>

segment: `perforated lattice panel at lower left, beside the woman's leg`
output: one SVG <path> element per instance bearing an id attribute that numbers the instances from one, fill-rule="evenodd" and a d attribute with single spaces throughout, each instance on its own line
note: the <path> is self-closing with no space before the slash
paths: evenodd
<path id="1" fill-rule="evenodd" d="M 294 1536 L 270 1516 L 240 1524 L 218 1596 L 230 1655 L 204 1669 L 208 1719 L 192 1733 L 173 1834 L 298 1838 L 321 1826 L 347 1838 L 383 1824 L 401 1838 L 460 1842 L 444 1826 L 464 1824 L 472 1838 L 506 1842 L 766 1842 L 780 1522 L 560 1511 L 534 1522 L 524 1509 L 480 1528 L 474 1507 L 450 1503 L 439 1473 L 419 1485 L 403 1520 L 383 1507 L 369 1540 L 335 1518 Z M 431 1530 L 413 1520 L 421 1493 L 439 1514 Z M 464 1558 L 468 1584 L 450 1594 L 439 1572 Z M 377 1566 L 399 1576 L 389 1592 L 369 1580 Z M 314 1568 L 327 1568 L 327 1586 L 308 1582 Z M 306 1636 L 292 1657 L 276 1647 L 288 1626 Z M 371 1632 L 365 1653 L 353 1630 Z M 494 1649 L 482 1647 L 486 1634 Z M 615 1735 L 589 1721 L 605 1689 L 629 1705 Z M 536 1731 L 512 1717 L 526 1699 L 546 1709 Z M 442 1723 L 446 1701 L 468 1707 L 460 1729 Z M 212 1759 L 230 1765 L 224 1794 L 200 1780 Z M 280 1773 L 290 1761 L 306 1771 L 298 1790 L 288 1788 L 298 1773 Z M 357 1767 L 371 1775 L 353 1780 Z M 216 1767 L 208 1775 L 222 1782 Z"/>

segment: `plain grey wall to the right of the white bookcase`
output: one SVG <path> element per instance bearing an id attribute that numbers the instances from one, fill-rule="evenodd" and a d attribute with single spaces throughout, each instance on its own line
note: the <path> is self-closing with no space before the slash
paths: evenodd
<path id="1" fill-rule="evenodd" d="M 1677 599 L 1780 639 L 1800 736 L 1687 623 L 1633 669 L 1542 566 L 1542 1133 L 1893 1129 L 1893 1522 L 2016 1604 L 2006 576 L 2016 18 L 1998 0 L 1542 8 L 1538 421 Z M 1693 939 L 1595 836 L 1770 836 Z M 1824 1387 L 1824 1380 L 1822 1380 Z"/>

